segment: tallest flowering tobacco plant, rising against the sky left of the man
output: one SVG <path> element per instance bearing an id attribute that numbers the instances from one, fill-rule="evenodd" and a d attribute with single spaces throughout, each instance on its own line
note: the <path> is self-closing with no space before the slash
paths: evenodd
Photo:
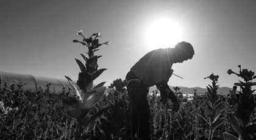
<path id="1" fill-rule="evenodd" d="M 82 41 L 73 40 L 73 42 L 80 43 L 87 47 L 88 57 L 86 57 L 84 54 L 80 54 L 82 58 L 84 58 L 85 63 L 82 63 L 82 61 L 75 58 L 80 68 L 77 80 L 77 85 L 79 86 L 80 90 L 68 76 L 65 76 L 69 83 L 71 83 L 73 86 L 75 94 L 63 99 L 63 107 L 69 116 L 76 118 L 79 122 L 77 138 L 80 138 L 80 133 L 82 133 L 82 125 L 90 124 L 88 120 L 84 121 L 85 116 L 94 106 L 94 104 L 101 99 L 105 91 L 105 86 L 103 86 L 105 82 L 99 83 L 92 88 L 93 80 L 99 77 L 99 75 L 106 70 L 105 68 L 98 69 L 98 58 L 100 58 L 101 55 L 94 55 L 94 52 L 99 51 L 99 47 L 101 47 L 103 44 L 109 44 L 109 41 L 99 43 L 99 38 L 101 37 L 101 33 L 99 32 L 93 33 L 93 35 L 86 38 L 82 30 L 79 30 L 77 35 L 82 37 Z M 96 116 L 100 116 L 104 110 L 106 110 L 106 108 L 102 108 L 102 111 L 98 111 Z M 92 118 L 95 119 L 96 116 L 93 116 Z M 92 120 L 90 119 L 90 121 Z"/>

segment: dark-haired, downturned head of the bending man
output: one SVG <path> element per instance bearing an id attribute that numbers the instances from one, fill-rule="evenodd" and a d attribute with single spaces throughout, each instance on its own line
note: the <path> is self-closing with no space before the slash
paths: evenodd
<path id="1" fill-rule="evenodd" d="M 174 48 L 174 63 L 182 63 L 188 59 L 193 58 L 194 49 L 190 43 L 182 41 Z"/>

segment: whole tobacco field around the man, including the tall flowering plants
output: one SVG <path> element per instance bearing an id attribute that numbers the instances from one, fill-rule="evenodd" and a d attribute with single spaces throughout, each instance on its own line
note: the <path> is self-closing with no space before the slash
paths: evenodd
<path id="1" fill-rule="evenodd" d="M 0 89 L 0 139 L 137 139 L 130 133 L 130 97 L 126 84 L 116 79 L 105 90 L 104 83 L 94 88 L 91 82 L 105 69 L 98 69 L 94 55 L 102 44 L 99 33 L 85 38 L 82 31 L 77 32 L 83 41 L 73 40 L 88 48 L 85 60 L 76 59 L 81 72 L 77 86 L 68 76 L 66 78 L 74 89 L 61 93 L 39 89 L 37 92 L 23 90 L 26 83 L 16 82 Z M 180 100 L 180 109 L 172 112 L 169 100 L 162 105 L 158 91 L 148 96 L 151 110 L 151 139 L 256 139 L 256 102 L 252 86 L 256 83 L 254 72 L 241 69 L 227 74 L 235 74 L 241 81 L 234 82 L 228 96 L 217 94 L 218 75 L 205 77 L 209 81 L 207 93 L 194 93 L 193 100 L 179 96 L 179 87 L 174 87 Z M 236 95 L 236 88 L 241 88 Z M 104 94 L 105 93 L 105 94 Z M 202 96 L 201 94 L 204 94 Z"/>

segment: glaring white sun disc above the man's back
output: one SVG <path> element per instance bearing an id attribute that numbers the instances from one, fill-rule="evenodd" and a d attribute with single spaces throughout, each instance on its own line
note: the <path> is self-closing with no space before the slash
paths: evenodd
<path id="1" fill-rule="evenodd" d="M 146 32 L 146 43 L 150 49 L 174 47 L 181 38 L 182 31 L 179 24 L 169 19 L 154 21 Z"/>

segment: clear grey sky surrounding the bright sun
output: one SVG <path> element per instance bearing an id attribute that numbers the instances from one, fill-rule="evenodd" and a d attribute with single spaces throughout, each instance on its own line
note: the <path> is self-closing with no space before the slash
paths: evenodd
<path id="1" fill-rule="evenodd" d="M 111 83 L 124 79 L 144 54 L 157 49 L 146 42 L 147 30 L 159 19 L 179 24 L 180 40 L 194 46 L 192 60 L 174 64 L 172 86 L 205 87 L 207 75 L 219 75 L 220 86 L 233 86 L 238 65 L 256 72 L 255 1 L 0 1 L 0 71 L 77 80 L 74 58 L 87 50 L 72 40 L 76 31 L 101 32 L 111 41 L 98 55 L 99 68 L 107 68 L 96 80 Z M 157 35 L 156 35 L 157 36 Z M 157 38 L 158 39 L 158 38 Z M 170 42 L 172 38 L 169 38 Z M 159 40 L 161 41 L 161 40 Z M 170 44 L 168 47 L 174 47 Z"/>

